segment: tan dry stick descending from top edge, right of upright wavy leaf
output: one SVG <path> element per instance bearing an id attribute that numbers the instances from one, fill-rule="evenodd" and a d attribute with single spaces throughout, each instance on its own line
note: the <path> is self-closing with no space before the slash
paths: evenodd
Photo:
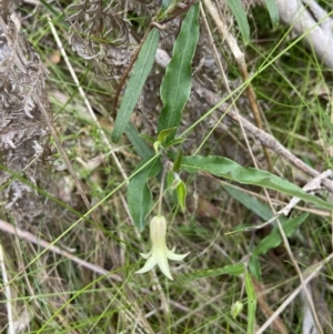
<path id="1" fill-rule="evenodd" d="M 248 94 L 248 99 L 250 101 L 250 107 L 251 107 L 251 110 L 252 110 L 252 113 L 254 117 L 254 122 L 255 122 L 256 126 L 262 130 L 263 125 L 262 125 L 262 120 L 261 120 L 261 115 L 260 115 L 260 110 L 259 110 L 259 105 L 256 102 L 255 93 L 250 83 L 250 75 L 248 72 L 244 53 L 239 48 L 236 40 L 232 37 L 232 34 L 229 33 L 225 24 L 221 20 L 220 14 L 219 14 L 216 8 L 212 4 L 211 0 L 204 0 L 204 4 L 205 4 L 210 16 L 214 20 L 220 33 L 224 38 L 228 47 L 230 48 L 231 52 L 233 53 L 233 57 L 235 58 L 235 61 L 238 63 L 238 67 L 241 72 L 241 75 L 243 78 L 243 81 L 248 81 L 245 91 Z M 266 148 L 264 148 L 264 146 L 263 146 L 263 152 L 264 152 L 264 155 L 265 155 L 265 159 L 268 162 L 269 170 L 273 171 L 273 164 L 272 164 L 271 156 L 270 156 Z"/>

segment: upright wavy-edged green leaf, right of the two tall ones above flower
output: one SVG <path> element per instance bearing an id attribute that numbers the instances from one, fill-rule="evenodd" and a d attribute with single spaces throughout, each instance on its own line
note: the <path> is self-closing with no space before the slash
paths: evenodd
<path id="1" fill-rule="evenodd" d="M 179 126 L 182 111 L 191 92 L 191 62 L 199 39 L 199 2 L 188 11 L 181 32 L 175 40 L 172 59 L 161 84 L 163 109 L 159 118 L 159 133 Z M 174 133 L 168 139 L 172 140 Z"/>

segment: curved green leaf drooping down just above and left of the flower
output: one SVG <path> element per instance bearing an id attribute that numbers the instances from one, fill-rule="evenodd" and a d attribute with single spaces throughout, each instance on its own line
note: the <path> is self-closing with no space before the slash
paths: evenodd
<path id="1" fill-rule="evenodd" d="M 150 163 L 148 163 L 149 160 L 151 160 Z M 143 165 L 145 166 L 142 169 Z M 145 217 L 152 209 L 152 194 L 147 182 L 161 171 L 162 165 L 158 158 L 150 158 L 144 160 L 137 168 L 137 170 L 140 169 L 142 170 L 130 180 L 128 188 L 128 204 L 135 226 L 142 231 L 144 227 Z"/>

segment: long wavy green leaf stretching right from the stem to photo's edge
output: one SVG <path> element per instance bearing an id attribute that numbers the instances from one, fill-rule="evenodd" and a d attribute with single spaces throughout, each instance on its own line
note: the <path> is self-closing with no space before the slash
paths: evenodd
<path id="1" fill-rule="evenodd" d="M 260 185 L 282 193 L 296 196 L 303 201 L 316 204 L 321 209 L 333 210 L 333 205 L 303 191 L 297 185 L 266 171 L 245 169 L 234 161 L 221 156 L 186 156 L 182 161 L 182 170 L 190 173 L 208 172 L 244 184 Z"/>

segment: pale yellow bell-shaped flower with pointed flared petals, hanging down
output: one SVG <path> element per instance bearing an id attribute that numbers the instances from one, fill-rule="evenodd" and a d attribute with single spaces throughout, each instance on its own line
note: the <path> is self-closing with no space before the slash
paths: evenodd
<path id="1" fill-rule="evenodd" d="M 138 274 L 143 274 L 149 272 L 155 265 L 160 267 L 162 273 L 169 279 L 172 280 L 168 259 L 173 261 L 182 261 L 185 256 L 190 254 L 175 254 L 173 247 L 171 251 L 167 246 L 165 242 L 167 235 L 167 221 L 163 215 L 154 216 L 150 222 L 150 237 L 152 242 L 152 250 L 148 254 L 140 255 L 147 260 L 144 266 L 138 271 Z"/>

